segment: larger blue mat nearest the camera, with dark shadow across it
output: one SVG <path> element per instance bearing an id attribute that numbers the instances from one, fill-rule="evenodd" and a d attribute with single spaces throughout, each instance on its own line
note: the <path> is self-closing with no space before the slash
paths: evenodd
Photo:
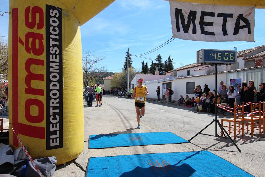
<path id="1" fill-rule="evenodd" d="M 89 158 L 85 177 L 249 177 L 251 174 L 209 151 Z"/>

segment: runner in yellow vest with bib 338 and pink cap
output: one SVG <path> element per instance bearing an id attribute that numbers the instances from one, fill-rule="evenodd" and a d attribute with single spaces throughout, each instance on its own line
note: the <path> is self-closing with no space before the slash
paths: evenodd
<path id="1" fill-rule="evenodd" d="M 136 119 L 138 122 L 137 128 L 140 129 L 140 117 L 145 115 L 145 101 L 146 95 L 149 95 L 147 87 L 143 85 L 143 78 L 137 80 L 138 86 L 136 86 L 131 94 L 132 98 L 135 98 L 135 110 Z"/>

